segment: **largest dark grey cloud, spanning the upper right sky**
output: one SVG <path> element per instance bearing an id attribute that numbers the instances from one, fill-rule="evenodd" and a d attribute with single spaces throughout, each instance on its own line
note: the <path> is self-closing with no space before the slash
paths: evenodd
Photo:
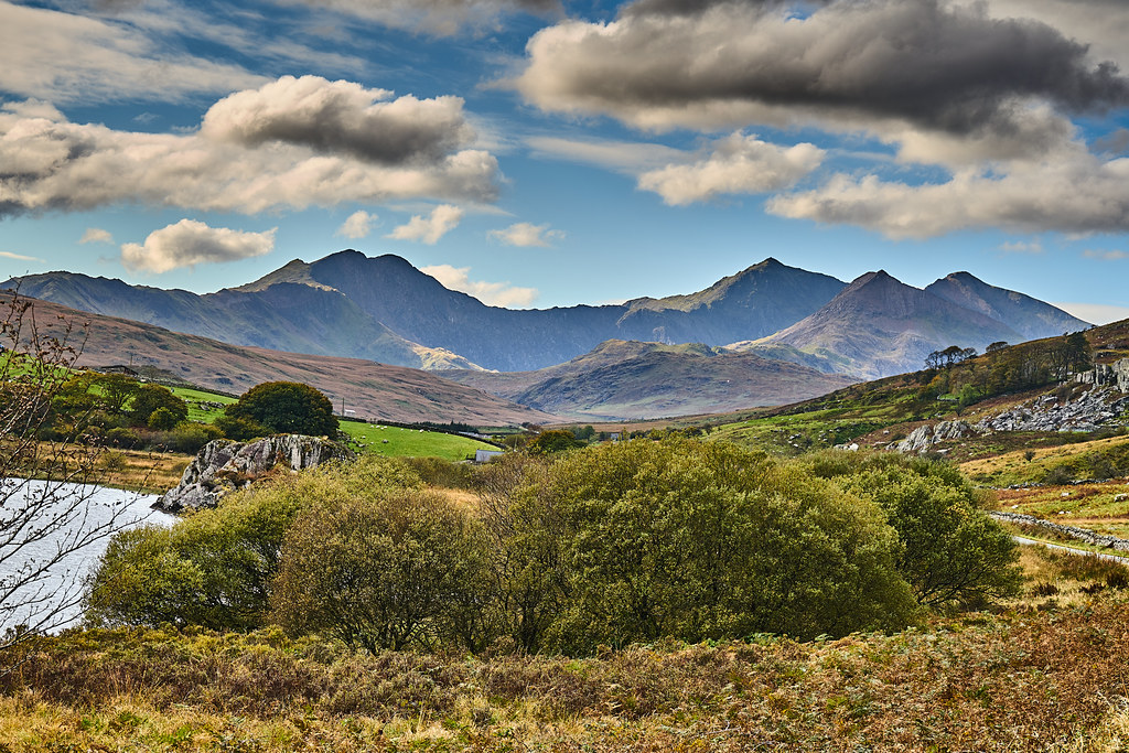
<path id="1" fill-rule="evenodd" d="M 515 86 L 548 111 L 656 130 L 814 123 L 1005 138 L 1031 99 L 1071 112 L 1129 103 L 1129 80 L 1086 45 L 982 5 L 833 0 L 806 16 L 781 6 L 641 3 L 609 24 L 561 21 L 530 41 Z"/>

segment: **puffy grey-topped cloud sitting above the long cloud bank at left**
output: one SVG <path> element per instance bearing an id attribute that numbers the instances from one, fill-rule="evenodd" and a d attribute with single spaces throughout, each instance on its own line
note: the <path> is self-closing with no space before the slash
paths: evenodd
<path id="1" fill-rule="evenodd" d="M 201 135 L 252 148 L 289 143 L 385 165 L 434 164 L 474 139 L 460 97 L 391 96 L 352 81 L 283 76 L 217 102 Z"/>

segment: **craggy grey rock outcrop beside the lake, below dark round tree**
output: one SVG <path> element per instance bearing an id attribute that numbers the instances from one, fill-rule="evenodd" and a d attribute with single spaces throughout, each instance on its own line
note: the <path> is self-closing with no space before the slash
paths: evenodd
<path id="1" fill-rule="evenodd" d="M 180 513 L 216 507 L 225 494 L 244 489 L 277 469 L 300 471 L 326 461 L 351 457 L 352 450 L 335 441 L 297 434 L 251 443 L 216 439 L 204 445 L 184 470 L 181 483 L 163 494 L 154 508 Z"/>

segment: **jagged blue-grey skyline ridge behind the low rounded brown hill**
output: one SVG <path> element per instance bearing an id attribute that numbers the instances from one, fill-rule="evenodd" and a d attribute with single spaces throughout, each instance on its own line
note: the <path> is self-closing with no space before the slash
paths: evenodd
<path id="1" fill-rule="evenodd" d="M 926 290 L 883 271 L 848 286 L 772 257 L 689 295 L 550 309 L 487 306 L 399 256 L 351 249 L 294 260 L 254 282 L 205 295 L 67 272 L 2 287 L 238 345 L 431 370 L 537 370 L 602 342 L 629 340 L 730 345 L 875 378 L 920 368 L 930 351 L 953 344 L 982 349 L 1085 326 L 966 272 Z"/>

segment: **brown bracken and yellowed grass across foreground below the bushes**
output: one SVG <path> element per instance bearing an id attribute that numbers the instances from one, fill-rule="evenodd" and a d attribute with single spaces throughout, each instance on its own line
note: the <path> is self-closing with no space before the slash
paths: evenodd
<path id="1" fill-rule="evenodd" d="M 0 680 L 0 750 L 1124 750 L 1126 568 L 1035 551 L 1024 568 L 1005 608 L 891 636 L 583 658 L 374 655 L 277 629 L 73 631 L 28 645 Z"/>

